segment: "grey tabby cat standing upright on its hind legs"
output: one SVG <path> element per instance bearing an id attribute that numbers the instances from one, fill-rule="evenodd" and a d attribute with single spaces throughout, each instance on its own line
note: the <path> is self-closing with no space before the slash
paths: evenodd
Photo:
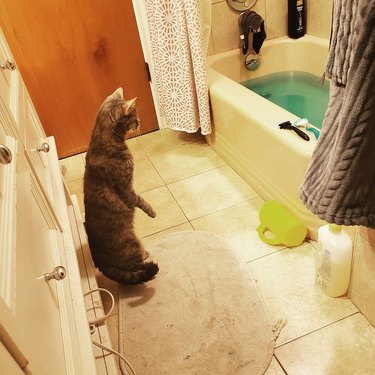
<path id="1" fill-rule="evenodd" d="M 124 100 L 122 88 L 99 108 L 86 155 L 85 228 L 95 266 L 123 284 L 152 280 L 159 267 L 145 262 L 148 253 L 134 231 L 138 207 L 155 217 L 152 207 L 133 189 L 133 156 L 126 134 L 139 129 L 135 99 Z"/>

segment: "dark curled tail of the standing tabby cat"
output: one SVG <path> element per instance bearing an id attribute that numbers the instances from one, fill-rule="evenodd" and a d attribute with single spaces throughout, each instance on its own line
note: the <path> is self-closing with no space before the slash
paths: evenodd
<path id="1" fill-rule="evenodd" d="M 154 262 L 144 262 L 132 264 L 127 269 L 101 265 L 99 270 L 103 275 L 122 284 L 142 284 L 155 277 L 159 266 Z"/>

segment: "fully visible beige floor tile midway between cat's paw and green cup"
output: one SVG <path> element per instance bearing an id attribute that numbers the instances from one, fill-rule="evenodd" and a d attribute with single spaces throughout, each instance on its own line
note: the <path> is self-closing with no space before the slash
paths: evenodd
<path id="1" fill-rule="evenodd" d="M 229 166 L 175 182 L 168 185 L 168 188 L 189 220 L 257 196 Z"/>

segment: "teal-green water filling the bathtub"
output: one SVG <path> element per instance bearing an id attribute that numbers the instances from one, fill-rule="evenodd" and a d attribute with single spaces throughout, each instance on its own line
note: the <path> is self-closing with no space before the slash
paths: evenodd
<path id="1" fill-rule="evenodd" d="M 241 85 L 300 118 L 308 118 L 317 128 L 322 127 L 328 105 L 328 81 L 321 85 L 319 77 L 313 74 L 289 71 L 249 79 Z"/>

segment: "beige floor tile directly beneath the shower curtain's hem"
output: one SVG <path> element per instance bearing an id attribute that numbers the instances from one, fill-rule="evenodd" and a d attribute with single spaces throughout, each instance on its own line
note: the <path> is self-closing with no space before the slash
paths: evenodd
<path id="1" fill-rule="evenodd" d="M 138 138 L 147 155 L 173 150 L 189 143 L 205 143 L 200 133 L 185 133 L 171 129 L 161 129 Z"/>

